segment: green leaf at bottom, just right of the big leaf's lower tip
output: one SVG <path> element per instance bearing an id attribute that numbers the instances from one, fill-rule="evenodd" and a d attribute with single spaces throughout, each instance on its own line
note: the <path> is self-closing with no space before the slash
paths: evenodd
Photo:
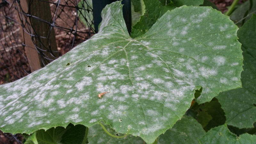
<path id="1" fill-rule="evenodd" d="M 183 116 L 181 120 L 173 125 L 171 130 L 167 130 L 159 136 L 158 142 L 161 144 L 193 144 L 198 143 L 199 138 L 205 134 L 202 125 L 193 117 Z"/>

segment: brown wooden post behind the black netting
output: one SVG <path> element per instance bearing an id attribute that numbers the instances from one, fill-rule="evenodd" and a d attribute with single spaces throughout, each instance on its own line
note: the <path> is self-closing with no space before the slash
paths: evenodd
<path id="1" fill-rule="evenodd" d="M 54 29 L 51 28 L 48 23 L 35 19 L 39 18 L 51 22 L 51 9 L 49 3 L 39 0 L 22 0 L 20 4 L 18 4 L 18 2 L 16 2 L 16 4 L 20 12 L 18 12 L 18 15 L 20 17 L 20 27 L 24 44 L 26 45 L 25 51 L 28 64 L 31 72 L 33 72 L 43 67 L 43 64 L 49 63 L 49 61 L 44 61 L 44 59 L 40 57 L 42 53 L 38 54 L 38 52 L 43 52 L 44 57 L 50 60 L 59 57 Z M 41 50 L 37 51 L 38 49 Z"/>

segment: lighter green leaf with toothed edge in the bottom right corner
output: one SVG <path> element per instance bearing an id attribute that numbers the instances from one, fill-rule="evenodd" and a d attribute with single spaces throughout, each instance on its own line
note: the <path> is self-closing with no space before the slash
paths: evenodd
<path id="1" fill-rule="evenodd" d="M 237 137 L 235 134 L 231 133 L 228 130 L 228 127 L 225 124 L 212 128 L 203 136 L 203 138 L 199 139 L 199 141 L 202 144 L 250 144 L 255 143 L 256 135 L 250 135 L 248 133 L 245 133 Z"/>

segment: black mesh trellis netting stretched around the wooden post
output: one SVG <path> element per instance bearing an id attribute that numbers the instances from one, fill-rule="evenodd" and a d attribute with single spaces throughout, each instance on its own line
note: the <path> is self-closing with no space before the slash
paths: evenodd
<path id="1" fill-rule="evenodd" d="M 1 0 L 0 25 L 0 84 L 4 84 L 35 70 L 29 64 L 29 49 L 36 50 L 44 67 L 90 38 L 92 0 Z M 22 137 L 0 131 L 0 144 L 8 143 L 22 143 Z"/>

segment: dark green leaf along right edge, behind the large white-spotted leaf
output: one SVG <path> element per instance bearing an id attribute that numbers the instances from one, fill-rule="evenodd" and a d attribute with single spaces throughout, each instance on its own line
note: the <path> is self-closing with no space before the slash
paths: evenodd
<path id="1" fill-rule="evenodd" d="M 228 125 L 252 128 L 256 122 L 256 15 L 246 21 L 237 35 L 244 51 L 244 71 L 241 74 L 243 87 L 222 92 L 217 99 Z"/>

